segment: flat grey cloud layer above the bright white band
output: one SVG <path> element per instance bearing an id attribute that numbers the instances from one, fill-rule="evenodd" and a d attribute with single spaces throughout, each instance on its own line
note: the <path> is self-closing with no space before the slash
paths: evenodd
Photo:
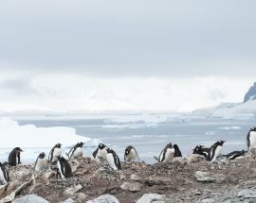
<path id="1" fill-rule="evenodd" d="M 1 1 L 0 68 L 255 76 L 255 1 Z"/>

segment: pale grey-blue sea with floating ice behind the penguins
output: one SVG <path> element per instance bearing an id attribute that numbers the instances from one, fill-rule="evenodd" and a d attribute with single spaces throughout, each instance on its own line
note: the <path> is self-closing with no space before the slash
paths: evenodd
<path id="1" fill-rule="evenodd" d="M 223 154 L 246 149 L 246 135 L 255 120 L 177 119 L 168 122 L 111 121 L 106 118 L 79 120 L 19 120 L 21 125 L 37 127 L 74 127 L 77 134 L 100 139 L 111 146 L 123 160 L 124 148 L 132 144 L 137 148 L 140 160 L 155 162 L 162 148 L 169 142 L 178 144 L 184 155 L 190 155 L 196 144 L 210 146 L 217 140 L 227 141 Z M 88 156 L 95 147 L 85 149 Z"/>

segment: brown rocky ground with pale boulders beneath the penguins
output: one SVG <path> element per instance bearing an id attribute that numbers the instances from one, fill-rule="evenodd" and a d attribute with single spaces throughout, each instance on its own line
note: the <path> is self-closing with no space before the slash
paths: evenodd
<path id="1" fill-rule="evenodd" d="M 33 175 L 31 165 L 9 168 L 11 181 L 0 187 L 0 202 L 14 196 L 16 203 L 256 202 L 252 155 L 235 161 L 192 155 L 168 163 L 122 162 L 120 171 L 89 158 L 70 164 L 74 178 L 67 179 L 56 179 L 53 171 Z"/>

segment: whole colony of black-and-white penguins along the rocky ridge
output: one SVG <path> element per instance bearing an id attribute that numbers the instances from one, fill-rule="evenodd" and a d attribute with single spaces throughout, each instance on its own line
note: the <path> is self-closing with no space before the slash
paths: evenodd
<path id="1" fill-rule="evenodd" d="M 222 147 L 225 141 L 217 141 L 210 147 L 205 147 L 204 145 L 196 145 L 192 149 L 192 154 L 198 154 L 204 156 L 207 161 L 216 161 L 221 155 Z M 71 178 L 73 177 L 71 166 L 68 160 L 77 159 L 82 157 L 82 145 L 83 143 L 75 144 L 71 147 L 70 151 L 66 153 L 68 159 L 64 159 L 62 156 L 62 144 L 55 144 L 48 154 L 48 159 L 46 160 L 45 152 L 39 154 L 34 171 L 42 171 L 47 167 L 52 170 L 57 170 L 57 178 Z M 256 149 L 256 127 L 251 127 L 247 133 L 247 149 L 248 151 Z M 9 182 L 9 171 L 8 167 L 16 166 L 21 164 L 21 153 L 23 150 L 20 147 L 15 147 L 9 153 L 9 160 L 5 163 L 0 162 L 0 185 Z M 229 160 L 234 160 L 239 157 L 243 157 L 247 151 L 233 151 L 224 157 Z M 181 151 L 177 144 L 169 143 L 161 151 L 159 157 L 155 157 L 156 161 L 159 162 L 169 162 L 173 161 L 175 157 L 182 157 Z M 112 149 L 107 147 L 105 144 L 99 144 L 96 150 L 93 152 L 91 158 L 95 161 L 107 161 L 109 166 L 113 170 L 120 170 L 121 164 L 118 154 Z M 124 161 L 138 161 L 137 150 L 134 146 L 129 145 L 124 150 Z"/>

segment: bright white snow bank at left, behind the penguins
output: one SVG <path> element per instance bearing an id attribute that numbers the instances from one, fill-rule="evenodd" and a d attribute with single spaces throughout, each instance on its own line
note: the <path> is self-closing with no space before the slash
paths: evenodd
<path id="1" fill-rule="evenodd" d="M 52 147 L 54 144 L 70 146 L 79 142 L 89 142 L 91 139 L 76 134 L 72 127 L 35 127 L 21 126 L 9 118 L 0 119 L 0 148 L 19 147 Z"/>

